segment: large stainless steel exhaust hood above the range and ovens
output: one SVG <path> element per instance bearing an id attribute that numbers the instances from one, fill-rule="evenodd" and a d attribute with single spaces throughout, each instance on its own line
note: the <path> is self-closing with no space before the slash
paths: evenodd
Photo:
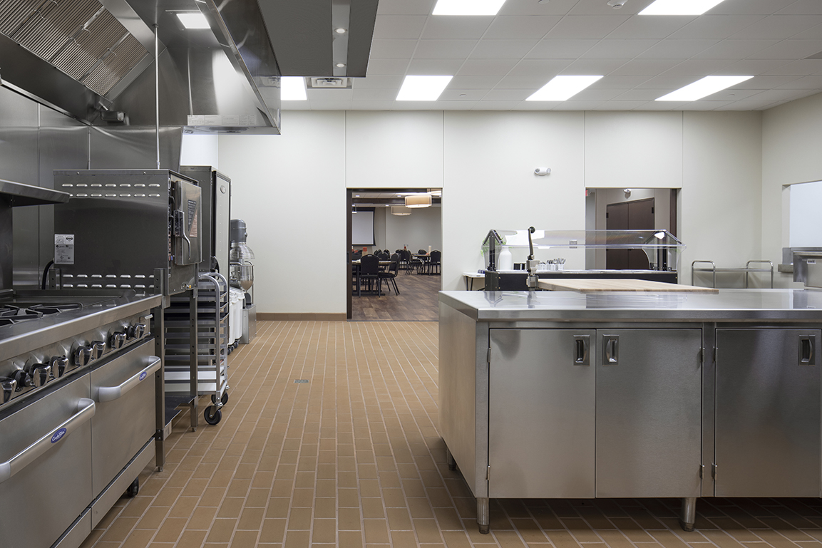
<path id="1" fill-rule="evenodd" d="M 177 14 L 202 12 L 208 30 Z M 256 0 L 0 0 L 2 85 L 94 125 L 279 134 L 279 66 Z"/>

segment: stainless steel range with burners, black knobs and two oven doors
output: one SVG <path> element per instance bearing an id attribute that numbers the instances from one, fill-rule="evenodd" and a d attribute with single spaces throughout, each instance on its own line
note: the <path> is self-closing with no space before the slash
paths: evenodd
<path id="1" fill-rule="evenodd" d="M 10 286 L 13 205 L 66 193 L 3 182 L 0 219 L 0 538 L 76 548 L 155 457 L 160 360 L 150 330 L 162 297 Z M 162 458 L 158 458 L 162 465 Z M 43 516 L 35 525 L 32 516 Z"/>

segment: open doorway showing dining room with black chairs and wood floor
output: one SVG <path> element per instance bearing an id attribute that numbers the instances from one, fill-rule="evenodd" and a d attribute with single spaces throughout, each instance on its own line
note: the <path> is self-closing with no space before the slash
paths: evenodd
<path id="1" fill-rule="evenodd" d="M 439 319 L 442 191 L 348 191 L 349 320 Z"/>

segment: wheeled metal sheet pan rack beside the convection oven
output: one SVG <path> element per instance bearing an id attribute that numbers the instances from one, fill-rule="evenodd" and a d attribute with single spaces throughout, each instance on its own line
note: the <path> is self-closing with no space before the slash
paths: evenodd
<path id="1" fill-rule="evenodd" d="M 190 405 L 194 429 L 197 397 L 211 394 L 204 418 L 217 424 L 229 401 L 229 283 L 222 274 L 200 273 L 193 298 L 171 297 L 165 341 L 167 410 Z"/>

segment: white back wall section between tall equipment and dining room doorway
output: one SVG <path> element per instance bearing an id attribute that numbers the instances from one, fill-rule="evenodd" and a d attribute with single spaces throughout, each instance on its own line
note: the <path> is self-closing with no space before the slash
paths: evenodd
<path id="1" fill-rule="evenodd" d="M 345 113 L 283 113 L 285 136 L 220 136 L 259 312 L 345 311 Z"/>

